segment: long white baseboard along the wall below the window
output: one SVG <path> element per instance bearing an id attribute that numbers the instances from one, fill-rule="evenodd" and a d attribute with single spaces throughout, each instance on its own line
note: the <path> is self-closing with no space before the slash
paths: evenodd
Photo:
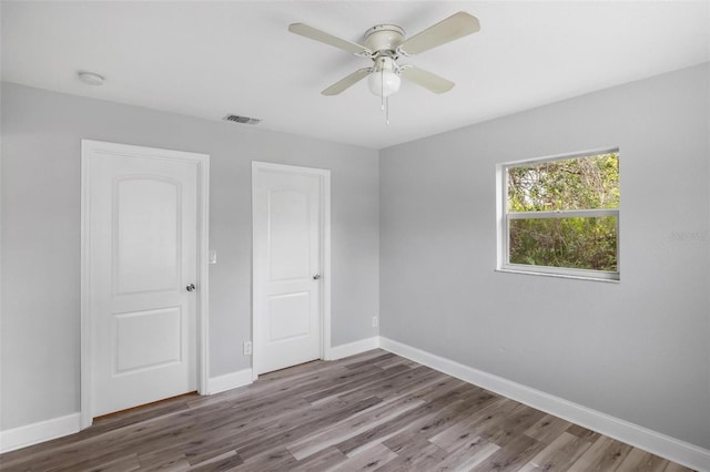
<path id="1" fill-rule="evenodd" d="M 710 450 L 385 337 L 379 337 L 379 347 L 661 458 L 698 471 L 710 471 Z"/>

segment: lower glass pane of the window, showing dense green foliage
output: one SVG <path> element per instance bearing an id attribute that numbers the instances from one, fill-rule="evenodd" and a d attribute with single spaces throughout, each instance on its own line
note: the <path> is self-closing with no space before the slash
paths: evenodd
<path id="1" fill-rule="evenodd" d="M 510 219 L 510 264 L 617 271 L 617 217 Z"/>

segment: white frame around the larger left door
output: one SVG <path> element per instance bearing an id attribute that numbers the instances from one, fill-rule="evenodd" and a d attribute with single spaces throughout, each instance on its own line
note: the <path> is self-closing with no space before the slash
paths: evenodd
<path id="1" fill-rule="evenodd" d="M 209 244 L 210 244 L 210 155 L 130 144 L 81 140 L 81 407 L 80 428 L 93 422 L 93 318 L 90 312 L 91 163 L 94 152 L 143 158 L 190 162 L 197 167 L 197 274 L 196 281 L 196 373 L 197 392 L 207 394 L 209 374 Z"/>

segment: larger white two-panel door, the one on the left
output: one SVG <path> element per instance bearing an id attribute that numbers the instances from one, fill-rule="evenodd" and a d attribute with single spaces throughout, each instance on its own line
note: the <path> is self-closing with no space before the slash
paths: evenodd
<path id="1" fill-rule="evenodd" d="M 197 164 L 110 143 L 82 154 L 98 417 L 196 389 Z"/>

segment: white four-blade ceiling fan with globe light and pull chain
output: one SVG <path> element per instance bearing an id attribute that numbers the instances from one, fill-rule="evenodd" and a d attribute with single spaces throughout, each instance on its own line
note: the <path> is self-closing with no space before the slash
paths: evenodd
<path id="1" fill-rule="evenodd" d="M 447 42 L 473 34 L 480 29 L 478 19 L 465 11 L 459 11 L 439 21 L 419 33 L 405 39 L 404 30 L 396 24 L 377 24 L 365 32 L 365 45 L 358 44 L 317 28 L 304 23 L 293 23 L 288 31 L 315 41 L 369 58 L 373 64 L 346 75 L 321 92 L 323 95 L 337 95 L 361 80 L 368 78 L 371 92 L 382 96 L 383 109 L 386 98 L 399 90 L 400 78 L 416 83 L 434 93 L 448 92 L 454 82 L 435 73 L 410 64 L 399 65 L 400 57 L 414 55 L 428 51 Z"/>

